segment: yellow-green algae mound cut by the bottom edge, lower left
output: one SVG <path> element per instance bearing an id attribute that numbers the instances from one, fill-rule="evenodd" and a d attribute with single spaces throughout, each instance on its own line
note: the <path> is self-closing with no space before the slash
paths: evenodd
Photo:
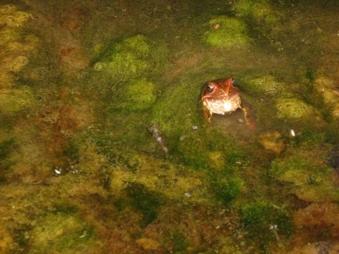
<path id="1" fill-rule="evenodd" d="M 28 253 L 85 253 L 99 248 L 93 228 L 76 216 L 49 214 L 32 229 Z"/>

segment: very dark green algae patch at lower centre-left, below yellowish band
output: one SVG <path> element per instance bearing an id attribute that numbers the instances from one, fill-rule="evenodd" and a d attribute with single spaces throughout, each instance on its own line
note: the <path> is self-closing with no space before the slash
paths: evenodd
<path id="1" fill-rule="evenodd" d="M 139 183 L 132 183 L 126 188 L 126 193 L 131 198 L 130 205 L 143 214 L 143 225 L 148 225 L 157 218 L 161 205 L 159 193 L 148 191 Z"/>

